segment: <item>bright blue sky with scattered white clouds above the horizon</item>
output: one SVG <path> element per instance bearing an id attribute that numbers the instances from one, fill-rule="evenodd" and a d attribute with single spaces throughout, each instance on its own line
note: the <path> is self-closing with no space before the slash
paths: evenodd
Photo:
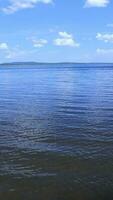
<path id="1" fill-rule="evenodd" d="M 113 0 L 0 0 L 0 63 L 113 62 Z"/>

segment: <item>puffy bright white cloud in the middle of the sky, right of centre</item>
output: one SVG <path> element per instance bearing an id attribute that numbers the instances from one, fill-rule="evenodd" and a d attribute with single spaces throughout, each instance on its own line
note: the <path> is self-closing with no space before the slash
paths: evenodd
<path id="1" fill-rule="evenodd" d="M 67 32 L 59 32 L 59 38 L 54 40 L 56 46 L 70 46 L 70 47 L 79 47 L 80 44 L 77 43 L 73 36 Z"/>

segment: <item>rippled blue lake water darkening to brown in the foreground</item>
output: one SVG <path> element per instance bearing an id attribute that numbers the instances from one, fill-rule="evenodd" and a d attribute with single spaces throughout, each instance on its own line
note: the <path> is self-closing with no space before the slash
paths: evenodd
<path id="1" fill-rule="evenodd" d="M 113 199 L 113 66 L 0 67 L 0 200 Z"/>

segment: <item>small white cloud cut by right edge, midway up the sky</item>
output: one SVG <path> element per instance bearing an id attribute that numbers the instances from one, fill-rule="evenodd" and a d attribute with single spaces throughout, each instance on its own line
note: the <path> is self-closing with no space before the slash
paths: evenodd
<path id="1" fill-rule="evenodd" d="M 96 35 L 97 40 L 102 40 L 104 42 L 113 42 L 113 34 L 101 34 L 97 33 Z"/>

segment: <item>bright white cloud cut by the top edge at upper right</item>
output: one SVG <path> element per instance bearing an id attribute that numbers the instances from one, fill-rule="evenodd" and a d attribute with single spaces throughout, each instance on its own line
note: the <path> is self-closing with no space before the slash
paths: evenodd
<path id="1" fill-rule="evenodd" d="M 110 0 L 87 0 L 85 7 L 106 7 Z"/>

